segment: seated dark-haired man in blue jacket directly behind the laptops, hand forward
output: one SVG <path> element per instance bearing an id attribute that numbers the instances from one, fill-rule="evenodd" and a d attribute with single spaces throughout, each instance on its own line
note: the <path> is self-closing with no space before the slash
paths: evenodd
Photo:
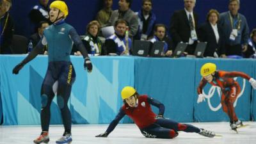
<path id="1" fill-rule="evenodd" d="M 150 42 L 164 42 L 164 56 L 172 55 L 172 45 L 170 44 L 170 38 L 166 36 L 166 26 L 164 24 L 156 24 L 154 27 L 154 36 L 150 39 Z"/>

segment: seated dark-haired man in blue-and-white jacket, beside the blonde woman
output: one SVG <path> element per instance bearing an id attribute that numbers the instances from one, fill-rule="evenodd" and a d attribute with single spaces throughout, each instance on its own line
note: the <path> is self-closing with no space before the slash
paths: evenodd
<path id="1" fill-rule="evenodd" d="M 108 54 L 129 55 L 131 50 L 131 38 L 125 33 L 128 24 L 125 20 L 115 22 L 115 33 L 106 39 L 105 46 Z"/>

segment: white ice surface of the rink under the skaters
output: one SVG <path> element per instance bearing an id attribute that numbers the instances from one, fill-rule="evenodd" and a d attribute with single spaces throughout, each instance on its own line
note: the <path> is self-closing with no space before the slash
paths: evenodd
<path id="1" fill-rule="evenodd" d="M 256 122 L 244 122 L 247 127 L 238 129 L 237 134 L 230 130 L 228 122 L 211 123 L 191 123 L 196 127 L 221 134 L 221 137 L 205 138 L 196 133 L 179 132 L 179 136 L 172 140 L 145 138 L 135 124 L 119 124 L 116 129 L 109 134 L 108 138 L 95 138 L 95 135 L 106 130 L 108 125 L 72 125 L 72 143 L 74 144 L 205 144 L 205 143 L 225 143 L 225 144 L 252 144 L 256 143 Z M 49 130 L 50 142 L 60 138 L 63 133 L 62 125 L 51 125 Z M 33 143 L 39 136 L 40 126 L 1 126 L 0 144 L 22 144 Z"/>

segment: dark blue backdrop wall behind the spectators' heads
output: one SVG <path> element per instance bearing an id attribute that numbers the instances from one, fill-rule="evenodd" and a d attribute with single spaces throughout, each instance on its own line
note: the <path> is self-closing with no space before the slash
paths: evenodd
<path id="1" fill-rule="evenodd" d="M 66 0 L 70 14 L 67 22 L 70 23 L 80 35 L 85 33 L 86 24 L 95 18 L 95 15 L 102 6 L 102 0 Z M 28 13 L 36 4 L 37 0 L 13 0 L 11 13 L 15 20 L 15 33 L 29 36 Z M 51 3 L 51 1 L 50 1 Z M 183 0 L 153 0 L 153 11 L 157 15 L 157 22 L 166 24 L 169 27 L 170 17 L 175 10 L 184 8 Z M 253 11 L 256 5 L 254 0 L 241 1 L 240 13 L 246 16 L 250 29 L 256 28 L 256 20 Z M 118 8 L 118 0 L 113 0 L 113 9 Z M 141 8 L 141 0 L 134 0 L 132 10 L 138 11 Z M 199 14 L 200 23 L 205 21 L 205 15 L 215 8 L 219 12 L 228 10 L 228 0 L 201 0 L 196 2 L 195 11 Z"/>

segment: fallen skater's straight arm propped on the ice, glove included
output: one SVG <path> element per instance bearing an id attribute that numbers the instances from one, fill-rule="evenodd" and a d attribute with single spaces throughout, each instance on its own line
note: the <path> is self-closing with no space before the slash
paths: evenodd
<path id="1" fill-rule="evenodd" d="M 116 125 L 118 124 L 118 122 L 125 116 L 125 112 L 122 108 L 120 108 L 119 113 L 116 115 L 115 119 L 112 120 L 112 122 L 109 124 L 108 129 L 106 132 L 97 135 L 96 137 L 108 137 L 108 134 L 110 134 L 110 132 L 112 132 Z"/>

